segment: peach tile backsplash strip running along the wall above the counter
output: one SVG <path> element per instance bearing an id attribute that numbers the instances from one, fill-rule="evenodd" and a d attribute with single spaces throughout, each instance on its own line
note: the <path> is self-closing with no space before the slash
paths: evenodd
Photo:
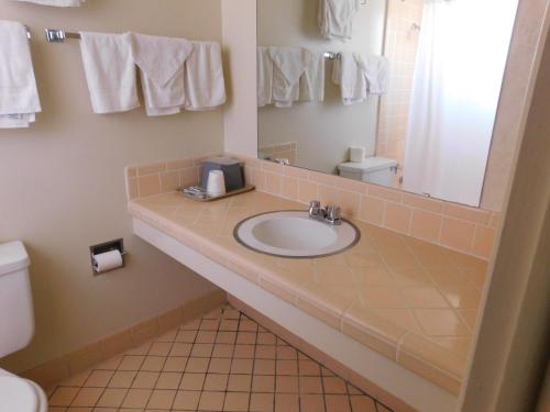
<path id="1" fill-rule="evenodd" d="M 200 163 L 215 155 L 127 167 L 128 198 L 145 198 L 196 185 Z M 323 204 L 336 203 L 345 216 L 483 259 L 491 257 L 498 212 L 256 158 L 231 156 L 244 162 L 245 179 L 258 191 L 304 204 L 314 199 Z"/>

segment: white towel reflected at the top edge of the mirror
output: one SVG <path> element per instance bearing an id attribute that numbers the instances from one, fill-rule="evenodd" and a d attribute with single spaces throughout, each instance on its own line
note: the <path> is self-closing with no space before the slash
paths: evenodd
<path id="1" fill-rule="evenodd" d="M 353 19 L 359 10 L 359 0 L 319 0 L 318 22 L 321 35 L 342 42 L 351 40 Z"/>

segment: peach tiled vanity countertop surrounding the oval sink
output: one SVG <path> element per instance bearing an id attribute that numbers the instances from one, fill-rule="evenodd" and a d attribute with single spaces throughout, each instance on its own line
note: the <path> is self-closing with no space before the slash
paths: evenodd
<path id="1" fill-rule="evenodd" d="M 233 238 L 241 220 L 289 209 L 304 205 L 261 192 L 208 203 L 179 193 L 129 202 L 134 218 L 458 394 L 486 263 L 355 220 L 360 243 L 323 258 L 267 256 Z"/>

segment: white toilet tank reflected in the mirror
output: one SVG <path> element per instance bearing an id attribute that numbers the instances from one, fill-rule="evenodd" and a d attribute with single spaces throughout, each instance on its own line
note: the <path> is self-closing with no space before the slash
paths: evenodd
<path id="1" fill-rule="evenodd" d="M 399 164 L 386 157 L 365 157 L 362 163 L 346 162 L 338 166 L 341 177 L 375 185 L 393 186 Z"/>

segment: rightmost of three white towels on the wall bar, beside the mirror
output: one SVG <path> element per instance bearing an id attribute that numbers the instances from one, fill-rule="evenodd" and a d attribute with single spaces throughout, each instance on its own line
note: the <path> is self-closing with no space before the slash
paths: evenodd
<path id="1" fill-rule="evenodd" d="M 221 47 L 216 42 L 191 42 L 185 64 L 185 110 L 211 110 L 226 103 Z"/>

